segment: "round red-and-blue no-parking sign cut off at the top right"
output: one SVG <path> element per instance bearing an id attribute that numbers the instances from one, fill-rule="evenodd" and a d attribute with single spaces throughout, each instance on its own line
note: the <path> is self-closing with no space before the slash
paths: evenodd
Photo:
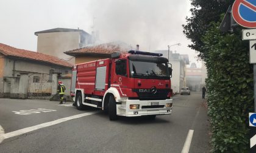
<path id="1" fill-rule="evenodd" d="M 256 1 L 236 0 L 232 7 L 235 21 L 243 27 L 256 27 Z"/>

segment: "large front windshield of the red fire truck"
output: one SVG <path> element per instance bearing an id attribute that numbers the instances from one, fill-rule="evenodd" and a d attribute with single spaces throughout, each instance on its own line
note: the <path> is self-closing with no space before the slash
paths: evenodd
<path id="1" fill-rule="evenodd" d="M 168 76 L 167 63 L 157 63 L 155 61 L 129 61 L 130 75 L 132 78 L 162 78 Z"/>

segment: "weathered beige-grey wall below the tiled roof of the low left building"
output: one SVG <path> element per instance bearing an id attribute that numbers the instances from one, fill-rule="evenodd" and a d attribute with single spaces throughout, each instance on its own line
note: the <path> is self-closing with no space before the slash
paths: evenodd
<path id="1" fill-rule="evenodd" d="M 33 61 L 13 60 L 12 58 L 0 58 L 0 67 L 0 97 L 10 98 L 27 98 L 29 80 L 33 81 L 33 77 L 29 76 L 33 76 L 34 73 L 71 73 L 71 67 L 58 67 Z M 47 76 L 47 80 L 51 79 L 51 75 Z"/>

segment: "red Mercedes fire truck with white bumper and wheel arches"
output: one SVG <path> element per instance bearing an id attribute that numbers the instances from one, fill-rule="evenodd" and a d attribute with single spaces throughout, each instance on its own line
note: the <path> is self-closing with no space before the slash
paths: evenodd
<path id="1" fill-rule="evenodd" d="M 73 66 L 74 106 L 107 110 L 110 120 L 172 113 L 171 64 L 161 53 L 130 50 Z"/>

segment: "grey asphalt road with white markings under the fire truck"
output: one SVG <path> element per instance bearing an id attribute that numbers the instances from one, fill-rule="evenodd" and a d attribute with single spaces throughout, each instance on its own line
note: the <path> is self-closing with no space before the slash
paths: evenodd
<path id="1" fill-rule="evenodd" d="M 171 115 L 110 121 L 99 109 L 71 103 L 0 99 L 0 141 L 8 136 L 0 152 L 181 152 L 190 130 L 189 152 L 209 152 L 203 103 L 199 93 L 176 95 Z"/>

